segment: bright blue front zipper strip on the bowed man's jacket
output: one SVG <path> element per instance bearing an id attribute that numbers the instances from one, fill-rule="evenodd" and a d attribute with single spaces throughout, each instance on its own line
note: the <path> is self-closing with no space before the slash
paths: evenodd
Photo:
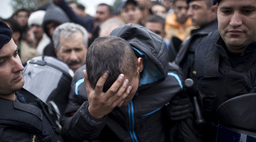
<path id="1" fill-rule="evenodd" d="M 130 136 L 131 136 L 133 142 L 138 142 L 138 138 L 137 138 L 137 136 L 135 134 L 135 130 L 134 130 L 135 122 L 134 122 L 134 110 L 133 110 L 133 101 L 132 100 L 128 104 L 128 113 L 129 113 L 129 132 L 130 132 Z"/>

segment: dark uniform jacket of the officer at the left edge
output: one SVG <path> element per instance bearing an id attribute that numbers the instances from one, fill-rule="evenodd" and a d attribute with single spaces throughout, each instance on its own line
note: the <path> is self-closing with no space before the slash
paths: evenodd
<path id="1" fill-rule="evenodd" d="M 15 101 L 0 99 L 0 141 L 62 142 L 59 130 L 42 109 L 44 105 L 39 100 L 28 104 L 25 97 L 31 94 L 20 92 L 26 94 L 16 92 Z"/>

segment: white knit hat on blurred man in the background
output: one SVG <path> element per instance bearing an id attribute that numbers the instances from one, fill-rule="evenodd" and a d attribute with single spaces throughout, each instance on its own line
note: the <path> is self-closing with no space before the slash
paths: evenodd
<path id="1" fill-rule="evenodd" d="M 28 17 L 28 27 L 31 28 L 31 25 L 42 26 L 45 12 L 45 10 L 38 10 L 30 14 Z"/>

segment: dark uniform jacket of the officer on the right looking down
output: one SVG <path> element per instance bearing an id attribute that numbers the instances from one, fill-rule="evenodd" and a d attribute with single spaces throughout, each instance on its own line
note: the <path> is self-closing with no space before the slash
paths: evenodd
<path id="1" fill-rule="evenodd" d="M 194 35 L 181 46 L 176 63 L 180 65 L 186 78 L 195 80 L 206 121 L 200 140 L 215 140 L 218 126 L 216 109 L 220 104 L 239 95 L 255 93 L 255 46 L 256 41 L 253 41 L 246 46 L 243 53 L 234 55 L 227 51 L 218 30 Z M 194 127 L 191 120 L 187 122 L 188 126 Z M 184 133 L 188 133 L 186 131 L 195 129 L 187 127 Z M 183 139 L 191 141 L 188 137 Z"/>

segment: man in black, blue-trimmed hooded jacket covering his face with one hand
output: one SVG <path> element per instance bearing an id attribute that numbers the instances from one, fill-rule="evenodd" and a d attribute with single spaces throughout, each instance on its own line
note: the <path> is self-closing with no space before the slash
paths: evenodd
<path id="1" fill-rule="evenodd" d="M 169 141 L 166 105 L 182 84 L 163 38 L 136 24 L 116 28 L 91 44 L 86 68 L 75 73 L 61 118 L 65 139 Z"/>

